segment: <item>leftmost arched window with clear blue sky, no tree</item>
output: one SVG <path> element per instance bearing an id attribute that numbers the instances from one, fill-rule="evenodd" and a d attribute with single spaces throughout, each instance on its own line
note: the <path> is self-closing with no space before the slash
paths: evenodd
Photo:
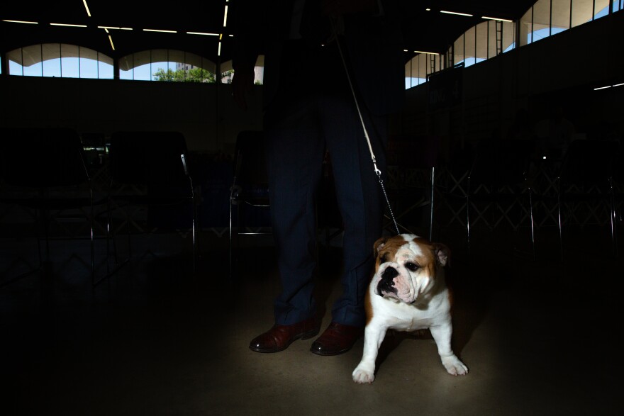
<path id="1" fill-rule="evenodd" d="M 42 43 L 6 54 L 9 75 L 113 79 L 113 58 L 87 47 Z"/>

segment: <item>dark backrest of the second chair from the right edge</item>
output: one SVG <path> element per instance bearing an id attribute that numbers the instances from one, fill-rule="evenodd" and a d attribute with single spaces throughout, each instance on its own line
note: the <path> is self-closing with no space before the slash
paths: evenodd
<path id="1" fill-rule="evenodd" d="M 522 184 L 528 175 L 534 150 L 534 140 L 482 140 L 475 148 L 469 172 L 471 189 L 476 189 L 479 184 L 491 187 L 491 190 Z"/>

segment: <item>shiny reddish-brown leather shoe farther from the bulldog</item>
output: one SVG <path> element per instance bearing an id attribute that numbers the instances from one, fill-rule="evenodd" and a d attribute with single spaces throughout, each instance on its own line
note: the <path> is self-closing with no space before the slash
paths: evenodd
<path id="1" fill-rule="evenodd" d="M 293 325 L 273 325 L 249 343 L 255 352 L 280 352 L 288 348 L 295 339 L 308 339 L 318 334 L 319 325 L 316 317 L 311 317 Z"/>

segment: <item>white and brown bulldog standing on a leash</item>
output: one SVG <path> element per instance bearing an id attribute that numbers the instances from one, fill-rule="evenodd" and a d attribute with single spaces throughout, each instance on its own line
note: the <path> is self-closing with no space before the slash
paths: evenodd
<path id="1" fill-rule="evenodd" d="M 374 381 L 375 360 L 387 330 L 428 328 L 446 371 L 453 376 L 468 373 L 451 349 L 451 296 L 444 276 L 448 247 L 401 234 L 377 240 L 374 253 L 375 273 L 365 300 L 364 354 L 352 373 L 353 381 Z"/>

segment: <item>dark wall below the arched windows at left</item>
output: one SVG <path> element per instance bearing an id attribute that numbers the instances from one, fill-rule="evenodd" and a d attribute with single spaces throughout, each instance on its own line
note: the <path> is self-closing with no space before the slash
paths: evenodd
<path id="1" fill-rule="evenodd" d="M 240 130 L 262 128 L 262 87 L 242 111 L 229 84 L 0 77 L 0 125 L 80 133 L 178 130 L 196 152 L 233 152 Z"/>

